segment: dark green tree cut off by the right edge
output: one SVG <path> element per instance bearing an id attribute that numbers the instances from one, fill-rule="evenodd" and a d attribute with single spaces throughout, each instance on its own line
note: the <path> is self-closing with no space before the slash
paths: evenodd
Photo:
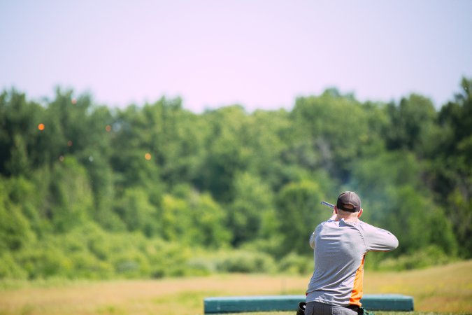
<path id="1" fill-rule="evenodd" d="M 431 181 L 441 196 L 448 217 L 452 220 L 461 255 L 472 257 L 472 80 L 462 78 L 462 91 L 454 102 L 441 108 L 439 122 L 445 139 L 433 161 Z"/>

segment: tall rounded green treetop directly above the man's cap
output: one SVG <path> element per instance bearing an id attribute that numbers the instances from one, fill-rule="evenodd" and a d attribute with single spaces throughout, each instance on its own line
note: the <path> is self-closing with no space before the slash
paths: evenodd
<path id="1" fill-rule="evenodd" d="M 347 181 L 352 161 L 369 146 L 368 118 L 359 102 L 337 90 L 327 90 L 320 97 L 299 97 L 292 111 L 294 161 L 310 170 L 326 169 Z"/>

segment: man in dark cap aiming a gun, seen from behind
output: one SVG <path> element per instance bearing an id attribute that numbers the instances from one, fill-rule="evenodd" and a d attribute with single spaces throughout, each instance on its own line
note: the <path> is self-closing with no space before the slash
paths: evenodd
<path id="1" fill-rule="evenodd" d="M 392 251 L 398 246 L 392 233 L 360 221 L 362 211 L 356 193 L 341 193 L 333 216 L 311 235 L 315 272 L 306 291 L 306 315 L 356 315 L 361 307 L 366 253 Z"/>

